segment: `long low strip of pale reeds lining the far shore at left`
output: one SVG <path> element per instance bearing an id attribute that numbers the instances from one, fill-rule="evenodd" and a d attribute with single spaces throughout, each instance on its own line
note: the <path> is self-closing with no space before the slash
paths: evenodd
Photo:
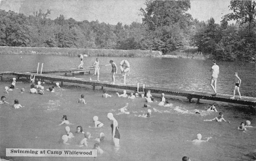
<path id="1" fill-rule="evenodd" d="M 46 54 L 61 56 L 77 56 L 87 54 L 88 56 L 161 56 L 161 51 L 142 50 L 113 50 L 113 49 L 82 49 L 82 48 L 43 48 L 43 47 L 9 47 L 0 46 L 0 54 Z"/>

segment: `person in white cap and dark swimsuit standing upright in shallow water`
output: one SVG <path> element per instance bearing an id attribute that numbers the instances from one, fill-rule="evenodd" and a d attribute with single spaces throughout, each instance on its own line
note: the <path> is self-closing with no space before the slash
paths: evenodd
<path id="1" fill-rule="evenodd" d="M 112 129 L 112 139 L 113 143 L 115 144 L 116 147 L 119 147 L 119 139 L 120 139 L 120 134 L 118 131 L 118 122 L 113 116 L 113 113 L 108 113 L 107 115 L 108 119 L 111 120 L 111 129 Z"/>

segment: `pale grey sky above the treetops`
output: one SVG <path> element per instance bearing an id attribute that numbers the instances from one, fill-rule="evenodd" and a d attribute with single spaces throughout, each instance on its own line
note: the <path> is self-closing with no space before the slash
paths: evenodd
<path id="1" fill-rule="evenodd" d="M 142 23 L 140 8 L 145 9 L 145 0 L 0 0 L 0 9 L 12 10 L 25 15 L 33 14 L 40 8 L 46 12 L 51 9 L 49 18 L 55 19 L 63 14 L 65 19 L 72 17 L 77 21 L 105 22 L 116 25 Z M 220 23 L 221 17 L 230 13 L 229 0 L 191 0 L 188 13 L 199 21 L 207 21 L 211 17 Z"/>

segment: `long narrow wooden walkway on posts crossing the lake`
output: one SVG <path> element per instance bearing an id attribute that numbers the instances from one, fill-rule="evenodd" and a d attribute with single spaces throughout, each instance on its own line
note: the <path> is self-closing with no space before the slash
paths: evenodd
<path id="1" fill-rule="evenodd" d="M 89 69 L 84 69 L 89 70 Z M 74 70 L 59 70 L 55 71 L 56 73 L 62 72 L 80 72 L 81 69 L 74 69 Z M 45 71 L 46 73 L 47 71 Z M 48 71 L 48 73 L 52 73 L 54 71 Z M 43 72 L 42 72 L 43 73 Z M 31 75 L 35 75 L 38 79 L 45 79 L 50 81 L 59 81 L 63 85 L 63 82 L 70 82 L 70 83 L 78 83 L 78 84 L 85 84 L 85 85 L 92 85 L 93 89 L 95 89 L 96 86 L 108 87 L 108 88 L 119 88 L 119 89 L 126 89 L 126 90 L 134 90 L 137 91 L 137 85 L 111 85 L 109 82 L 94 82 L 90 81 L 88 79 L 81 79 L 81 78 L 74 78 L 74 77 L 66 77 L 66 76 L 55 76 L 51 74 L 36 74 L 31 72 L 0 72 L 0 75 L 3 76 L 5 74 L 9 75 L 15 75 L 17 77 L 27 77 L 29 78 Z M 241 105 L 250 105 L 253 106 L 253 114 L 256 114 L 256 98 L 255 97 L 246 97 L 243 96 L 242 99 L 230 99 L 231 95 L 228 94 L 217 94 L 216 96 L 212 96 L 211 93 L 206 92 L 192 92 L 192 91 L 184 91 L 184 90 L 161 90 L 159 88 L 145 88 L 147 90 L 151 90 L 151 93 L 165 93 L 166 95 L 174 95 L 174 96 L 184 96 L 189 99 L 189 102 L 191 102 L 191 99 L 195 98 L 198 100 L 200 99 L 206 99 L 206 100 L 212 100 L 212 101 L 220 101 L 220 102 L 229 102 L 229 103 L 236 103 Z M 143 88 L 139 88 L 139 91 L 143 91 Z"/>

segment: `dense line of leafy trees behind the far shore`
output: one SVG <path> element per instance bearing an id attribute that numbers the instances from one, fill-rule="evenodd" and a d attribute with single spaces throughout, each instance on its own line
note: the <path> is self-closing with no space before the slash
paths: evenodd
<path id="1" fill-rule="evenodd" d="M 25 16 L 0 10 L 0 46 L 159 50 L 169 54 L 185 46 L 224 61 L 255 61 L 256 3 L 231 1 L 231 14 L 221 24 L 213 18 L 204 22 L 187 11 L 190 1 L 145 2 L 140 8 L 143 23 L 130 25 L 76 21 L 61 14 L 49 19 L 51 10 Z M 236 23 L 229 24 L 230 20 Z"/>

